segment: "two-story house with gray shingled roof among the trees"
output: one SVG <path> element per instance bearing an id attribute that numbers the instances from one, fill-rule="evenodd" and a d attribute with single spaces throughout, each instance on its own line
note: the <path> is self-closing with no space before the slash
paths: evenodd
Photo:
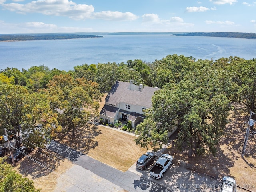
<path id="1" fill-rule="evenodd" d="M 160 89 L 116 81 L 106 96 L 100 118 L 113 124 L 119 119 L 130 121 L 135 127 L 144 120 L 143 110 L 152 107 L 151 98 L 157 90 Z"/>

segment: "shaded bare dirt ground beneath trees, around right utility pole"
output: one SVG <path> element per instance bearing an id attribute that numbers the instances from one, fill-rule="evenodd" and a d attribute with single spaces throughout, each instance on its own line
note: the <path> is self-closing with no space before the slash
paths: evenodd
<path id="1" fill-rule="evenodd" d="M 243 108 L 241 104 L 234 104 L 234 109 L 228 117 L 229 123 L 225 128 L 226 134 L 217 146 L 216 156 L 207 153 L 188 158 L 188 152 L 180 152 L 176 149 L 175 140 L 174 148 L 170 145 L 165 152 L 186 162 L 188 168 L 213 177 L 232 176 L 239 186 L 247 186 L 247 189 L 256 191 L 256 136 L 249 136 L 244 158 L 241 157 L 248 125 L 244 123 L 248 121 L 248 114 L 244 113 Z"/>

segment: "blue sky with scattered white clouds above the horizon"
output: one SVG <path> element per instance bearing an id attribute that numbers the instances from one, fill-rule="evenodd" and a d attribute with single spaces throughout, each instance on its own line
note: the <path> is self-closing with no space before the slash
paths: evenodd
<path id="1" fill-rule="evenodd" d="M 256 0 L 0 0 L 0 34 L 256 33 Z"/>

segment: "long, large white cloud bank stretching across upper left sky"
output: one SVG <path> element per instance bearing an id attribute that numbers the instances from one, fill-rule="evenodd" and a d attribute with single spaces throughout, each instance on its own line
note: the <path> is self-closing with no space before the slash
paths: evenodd
<path id="1" fill-rule="evenodd" d="M 95 13 L 92 5 L 76 4 L 70 0 L 37 0 L 27 4 L 2 4 L 2 7 L 20 14 L 41 13 L 44 15 L 67 16 L 74 20 L 88 18 L 104 20 L 135 20 L 138 18 L 130 12 L 102 11 Z"/>

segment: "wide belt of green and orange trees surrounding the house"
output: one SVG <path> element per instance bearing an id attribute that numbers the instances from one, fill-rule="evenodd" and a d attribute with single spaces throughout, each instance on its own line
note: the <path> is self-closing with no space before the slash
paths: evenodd
<path id="1" fill-rule="evenodd" d="M 29 134 L 30 142 L 43 146 L 60 132 L 76 136 L 76 129 L 98 116 L 102 93 L 114 82 L 161 88 L 136 127 L 136 143 L 161 148 L 168 131 L 178 122 L 177 144 L 188 155 L 216 153 L 233 102 L 245 110 L 256 108 L 256 59 L 236 56 L 196 60 L 192 56 L 168 55 L 161 60 L 128 60 L 83 64 L 74 70 L 32 66 L 0 71 L 0 134 L 4 127 Z M 38 129 L 37 125 L 43 125 Z M 21 130 L 20 130 L 21 126 Z"/>

